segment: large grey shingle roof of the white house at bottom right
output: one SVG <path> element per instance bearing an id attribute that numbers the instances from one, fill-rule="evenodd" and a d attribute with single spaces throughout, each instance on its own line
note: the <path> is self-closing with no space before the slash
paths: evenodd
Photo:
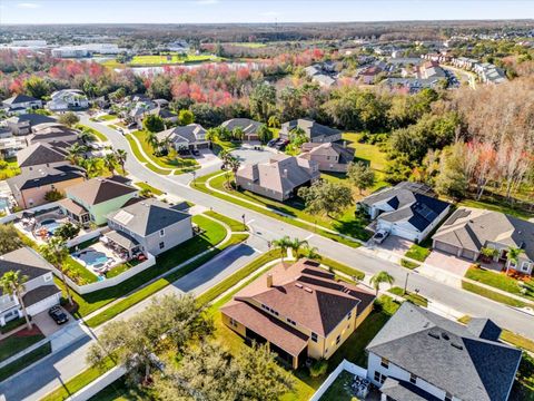
<path id="1" fill-rule="evenodd" d="M 367 351 L 466 401 L 504 401 L 522 352 L 408 302 Z"/>

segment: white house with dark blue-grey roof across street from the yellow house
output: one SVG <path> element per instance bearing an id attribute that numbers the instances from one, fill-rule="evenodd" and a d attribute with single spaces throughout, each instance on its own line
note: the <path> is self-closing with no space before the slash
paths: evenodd
<path id="1" fill-rule="evenodd" d="M 358 207 L 376 219 L 376 229 L 421 243 L 447 216 L 451 204 L 433 197 L 423 184 L 399 183 L 365 197 Z"/>

